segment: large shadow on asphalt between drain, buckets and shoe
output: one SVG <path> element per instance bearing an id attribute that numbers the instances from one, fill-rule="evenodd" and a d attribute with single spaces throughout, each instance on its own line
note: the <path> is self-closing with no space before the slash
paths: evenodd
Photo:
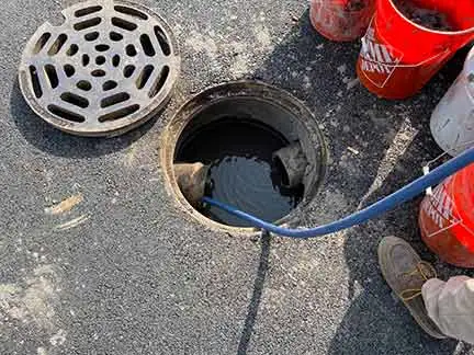
<path id="1" fill-rule="evenodd" d="M 402 102 L 379 99 L 358 83 L 354 62 L 359 50 L 359 43 L 323 38 L 313 30 L 306 12 L 253 75 L 289 90 L 314 112 L 331 158 L 324 191 L 342 195 L 347 202 L 340 209 L 332 206 L 339 217 L 418 178 L 422 163 L 441 152 L 430 137 L 430 114 L 465 57 L 463 50 L 418 95 Z M 351 154 L 348 147 L 358 153 Z M 382 184 L 374 185 L 380 175 Z M 345 255 L 352 304 L 332 339 L 331 354 L 413 354 L 417 348 L 425 354 L 452 354 L 463 346 L 426 335 L 391 296 L 379 272 L 377 243 L 388 234 L 408 240 L 433 261 L 418 237 L 419 202 L 407 203 L 348 232 Z M 312 220 L 327 222 L 334 218 L 318 206 L 311 214 Z"/>

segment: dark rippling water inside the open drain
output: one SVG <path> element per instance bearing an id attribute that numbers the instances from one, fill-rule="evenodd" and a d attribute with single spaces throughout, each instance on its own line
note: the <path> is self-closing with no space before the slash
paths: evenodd
<path id="1" fill-rule="evenodd" d="M 285 146 L 284 137 L 267 125 L 226 118 L 183 141 L 177 160 L 211 165 L 211 197 L 275 221 L 300 203 L 304 192 L 303 186 L 297 190 L 281 186 L 281 172 L 272 164 L 272 153 Z M 226 225 L 249 226 L 214 207 L 202 213 Z"/>

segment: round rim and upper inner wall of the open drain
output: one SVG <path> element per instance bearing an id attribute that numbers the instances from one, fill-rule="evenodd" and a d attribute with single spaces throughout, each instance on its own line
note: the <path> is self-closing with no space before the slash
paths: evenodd
<path id="1" fill-rule="evenodd" d="M 244 108 L 240 103 L 251 102 L 253 105 L 267 105 L 269 110 L 279 110 L 281 117 L 255 116 L 257 119 L 280 131 L 289 141 L 300 140 L 302 149 L 309 162 L 304 176 L 303 201 L 285 217 L 275 221 L 280 226 L 294 226 L 304 215 L 305 208 L 318 193 L 323 185 L 328 160 L 326 142 L 313 113 L 289 92 L 258 81 L 233 81 L 205 89 L 176 113 L 170 124 L 165 129 L 160 142 L 160 160 L 165 173 L 165 183 L 171 195 L 177 198 L 180 209 L 201 224 L 216 230 L 238 234 L 255 233 L 253 228 L 233 227 L 216 222 L 199 210 L 194 209 L 181 193 L 174 174 L 174 159 L 177 147 L 185 138 L 183 135 L 202 127 L 210 122 L 219 119 L 218 115 L 205 122 L 196 122 L 196 117 L 210 108 L 218 105 L 232 104 L 237 113 L 251 115 L 256 111 Z M 244 111 L 242 111 L 244 110 Z M 247 110 L 247 112 L 245 112 Z M 250 110 L 251 112 L 248 112 Z M 283 118 L 284 117 L 284 118 Z M 187 133 L 187 130 L 189 133 Z"/>

